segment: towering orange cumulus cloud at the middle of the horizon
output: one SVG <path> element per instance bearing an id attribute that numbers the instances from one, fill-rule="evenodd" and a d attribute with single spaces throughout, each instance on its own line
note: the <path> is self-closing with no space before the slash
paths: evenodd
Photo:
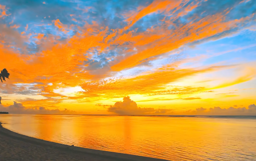
<path id="1" fill-rule="evenodd" d="M 123 101 L 116 102 L 110 105 L 107 109 L 109 112 L 114 112 L 120 115 L 142 115 L 142 114 L 164 114 L 171 109 L 154 109 L 138 107 L 136 102 L 132 101 L 129 96 L 123 98 Z"/>

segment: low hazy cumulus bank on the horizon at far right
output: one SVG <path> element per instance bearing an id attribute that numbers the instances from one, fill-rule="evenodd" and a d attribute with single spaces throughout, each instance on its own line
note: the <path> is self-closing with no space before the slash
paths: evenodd
<path id="1" fill-rule="evenodd" d="M 195 110 L 188 110 L 182 113 L 182 115 L 256 115 L 256 105 L 252 104 L 248 106 L 248 108 L 245 107 L 229 107 L 227 109 L 222 109 L 220 107 L 214 107 L 210 109 L 205 108 L 198 108 Z"/>

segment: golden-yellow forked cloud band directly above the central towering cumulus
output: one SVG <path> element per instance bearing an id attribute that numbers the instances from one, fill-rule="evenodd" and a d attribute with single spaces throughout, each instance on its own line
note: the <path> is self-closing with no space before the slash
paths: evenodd
<path id="1" fill-rule="evenodd" d="M 225 66 L 224 66 L 225 67 Z M 165 85 L 182 79 L 186 76 L 218 70 L 219 67 L 211 67 L 207 69 L 183 69 L 183 70 L 166 70 L 161 72 L 153 72 L 151 74 L 141 75 L 130 79 L 122 80 L 104 80 L 94 81 L 81 84 L 86 91 L 82 95 L 85 97 L 93 97 L 94 95 L 105 94 L 110 95 L 167 95 L 167 94 L 189 94 L 204 91 L 204 87 L 182 87 L 183 89 L 174 88 L 166 90 Z M 220 68 L 221 69 L 221 68 Z M 171 74 L 170 74 L 171 73 Z M 101 95 L 98 95 L 101 97 Z"/>

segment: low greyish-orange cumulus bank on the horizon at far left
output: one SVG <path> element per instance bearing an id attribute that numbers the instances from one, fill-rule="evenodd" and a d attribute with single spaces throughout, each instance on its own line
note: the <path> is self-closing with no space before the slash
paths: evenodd
<path id="1" fill-rule="evenodd" d="M 0 111 L 9 112 L 9 114 L 76 114 L 76 111 L 72 110 L 50 110 L 45 107 L 26 108 L 21 103 L 14 101 L 13 105 L 4 107 L 0 105 Z"/>

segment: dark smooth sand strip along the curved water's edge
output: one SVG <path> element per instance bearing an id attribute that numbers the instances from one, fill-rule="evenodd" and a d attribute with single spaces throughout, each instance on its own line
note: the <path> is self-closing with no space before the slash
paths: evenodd
<path id="1" fill-rule="evenodd" d="M 94 157 L 94 158 L 98 157 L 99 159 L 105 159 L 105 160 L 166 161 L 164 159 L 157 159 L 157 158 L 151 158 L 151 157 L 145 157 L 145 156 L 138 156 L 138 155 L 123 154 L 123 153 L 110 152 L 110 151 L 88 149 L 88 148 L 83 148 L 83 147 L 59 144 L 59 143 L 56 143 L 56 142 L 51 142 L 51 141 L 46 141 L 46 140 L 40 140 L 40 139 L 36 139 L 34 137 L 22 135 L 22 134 L 14 132 L 14 131 L 5 129 L 4 127 L 2 127 L 1 124 L 2 123 L 0 122 L 0 136 L 1 135 L 6 136 L 7 139 L 9 138 L 9 139 L 13 139 L 13 141 L 22 141 L 22 142 L 25 142 L 25 143 L 32 144 L 32 146 L 33 145 L 34 146 L 42 146 L 45 149 L 51 148 L 52 150 L 58 150 L 58 151 L 63 151 L 63 152 L 72 152 L 72 153 L 75 153 L 76 155 L 78 155 L 78 154 L 86 155 L 88 160 L 90 160 L 90 157 Z M 1 140 L 0 140 L 0 142 L 1 142 Z M 0 155 L 0 157 L 1 157 L 1 155 Z"/>

